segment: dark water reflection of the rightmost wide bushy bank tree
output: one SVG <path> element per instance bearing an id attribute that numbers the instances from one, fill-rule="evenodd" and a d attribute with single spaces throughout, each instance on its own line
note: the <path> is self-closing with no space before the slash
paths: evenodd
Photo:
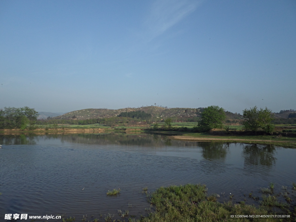
<path id="1" fill-rule="evenodd" d="M 247 165 L 272 166 L 276 163 L 273 145 L 245 145 L 243 150 L 244 163 Z"/>

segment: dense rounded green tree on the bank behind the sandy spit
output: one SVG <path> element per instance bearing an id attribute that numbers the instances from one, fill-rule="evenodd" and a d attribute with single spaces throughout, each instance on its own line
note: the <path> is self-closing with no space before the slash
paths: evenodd
<path id="1" fill-rule="evenodd" d="M 209 106 L 202 112 L 202 120 L 198 126 L 201 131 L 210 131 L 213 128 L 222 128 L 226 118 L 224 109 L 218 106 Z"/>

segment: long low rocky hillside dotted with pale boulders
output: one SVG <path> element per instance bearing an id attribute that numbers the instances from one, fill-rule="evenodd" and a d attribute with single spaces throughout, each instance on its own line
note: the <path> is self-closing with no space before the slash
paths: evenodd
<path id="1" fill-rule="evenodd" d="M 63 115 L 54 117 L 53 119 L 95 119 L 95 118 L 108 118 L 119 115 L 121 112 L 131 111 L 144 111 L 150 113 L 154 118 L 192 118 L 200 117 L 200 110 L 194 108 L 164 108 L 158 106 L 147 106 L 139 108 L 124 108 L 119 110 L 108 110 L 108 109 L 84 109 L 68 112 Z"/>

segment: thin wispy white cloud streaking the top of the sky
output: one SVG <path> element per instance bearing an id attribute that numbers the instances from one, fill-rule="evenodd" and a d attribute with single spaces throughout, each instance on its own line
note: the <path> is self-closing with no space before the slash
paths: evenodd
<path id="1" fill-rule="evenodd" d="M 152 4 L 145 27 L 150 39 L 163 34 L 170 27 L 194 12 L 201 1 L 157 0 Z"/>

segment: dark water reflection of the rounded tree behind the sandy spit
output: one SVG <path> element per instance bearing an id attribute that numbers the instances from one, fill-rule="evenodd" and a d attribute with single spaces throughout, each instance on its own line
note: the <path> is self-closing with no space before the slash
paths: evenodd
<path id="1" fill-rule="evenodd" d="M 202 147 L 202 156 L 206 160 L 225 159 L 229 144 L 219 142 L 200 142 L 198 144 Z"/>

